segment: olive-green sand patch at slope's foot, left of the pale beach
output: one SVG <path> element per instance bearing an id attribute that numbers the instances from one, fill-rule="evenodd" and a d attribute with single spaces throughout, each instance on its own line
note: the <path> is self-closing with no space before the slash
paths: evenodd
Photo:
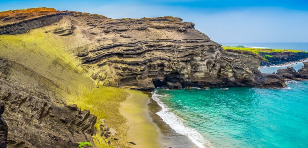
<path id="1" fill-rule="evenodd" d="M 100 86 L 94 88 L 92 92 L 84 91 L 80 98 L 75 98 L 70 104 L 77 104 L 82 110 L 90 110 L 91 114 L 97 117 L 95 128 L 99 131 L 99 125 L 103 124 L 100 119 L 106 119 L 106 124 L 118 131 L 118 137 L 126 137 L 126 131 L 123 129 L 126 119 L 120 114 L 120 103 L 123 102 L 129 94 L 123 88 Z M 93 141 L 100 148 L 107 148 L 107 140 L 100 132 L 93 135 Z M 124 142 L 124 141 L 120 141 Z M 120 142 L 112 142 L 113 145 L 122 145 Z M 111 146 L 113 147 L 113 146 Z"/>

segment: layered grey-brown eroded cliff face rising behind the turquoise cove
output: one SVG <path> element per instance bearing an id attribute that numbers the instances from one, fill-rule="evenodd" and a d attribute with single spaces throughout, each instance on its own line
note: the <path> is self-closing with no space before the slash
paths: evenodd
<path id="1" fill-rule="evenodd" d="M 193 23 L 180 18 L 111 19 L 52 10 L 3 24 L 0 34 L 45 26 L 46 34 L 68 40 L 71 51 L 67 52 L 79 60 L 77 66 L 105 86 L 152 90 L 260 84 L 253 73 L 257 72 L 261 56 L 222 50 L 221 45 L 195 30 Z"/>

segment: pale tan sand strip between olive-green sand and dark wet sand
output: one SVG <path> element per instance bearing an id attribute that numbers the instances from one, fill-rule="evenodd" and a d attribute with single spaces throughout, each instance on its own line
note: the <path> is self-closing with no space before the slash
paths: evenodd
<path id="1" fill-rule="evenodd" d="M 157 148 L 159 129 L 152 122 L 148 114 L 147 104 L 149 103 L 148 95 L 141 91 L 126 90 L 130 96 L 121 103 L 120 113 L 127 119 L 126 125 L 128 130 L 128 141 L 136 145 L 130 145 L 133 148 Z"/>

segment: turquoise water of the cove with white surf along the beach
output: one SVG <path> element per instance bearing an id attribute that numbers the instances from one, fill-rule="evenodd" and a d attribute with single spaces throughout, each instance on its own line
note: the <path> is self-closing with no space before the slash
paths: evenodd
<path id="1" fill-rule="evenodd" d="M 157 114 L 200 148 L 307 148 L 308 81 L 287 85 L 156 89 L 152 98 L 162 107 Z"/>

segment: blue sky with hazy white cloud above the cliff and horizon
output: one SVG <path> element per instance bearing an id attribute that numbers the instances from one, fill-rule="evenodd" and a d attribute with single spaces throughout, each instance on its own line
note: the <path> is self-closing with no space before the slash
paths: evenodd
<path id="1" fill-rule="evenodd" d="M 0 11 L 33 7 L 109 18 L 180 17 L 219 43 L 308 42 L 308 0 L 0 0 Z"/>

